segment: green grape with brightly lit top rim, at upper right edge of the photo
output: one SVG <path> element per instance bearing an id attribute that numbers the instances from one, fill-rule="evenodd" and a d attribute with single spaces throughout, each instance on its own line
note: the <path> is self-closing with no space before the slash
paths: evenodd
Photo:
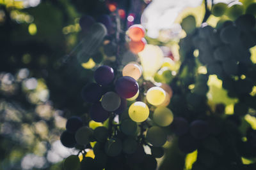
<path id="1" fill-rule="evenodd" d="M 231 5 L 231 6 L 230 6 Z M 228 10 L 226 12 L 226 15 L 232 19 L 236 20 L 240 15 L 243 15 L 244 13 L 244 7 L 242 3 L 234 2 L 232 4 L 228 5 Z"/>

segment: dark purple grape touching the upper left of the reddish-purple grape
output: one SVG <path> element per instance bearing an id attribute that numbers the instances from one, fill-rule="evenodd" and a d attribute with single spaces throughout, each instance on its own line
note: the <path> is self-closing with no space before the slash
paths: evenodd
<path id="1" fill-rule="evenodd" d="M 109 66 L 100 66 L 95 70 L 94 79 L 100 85 L 109 85 L 114 79 L 114 70 Z"/>

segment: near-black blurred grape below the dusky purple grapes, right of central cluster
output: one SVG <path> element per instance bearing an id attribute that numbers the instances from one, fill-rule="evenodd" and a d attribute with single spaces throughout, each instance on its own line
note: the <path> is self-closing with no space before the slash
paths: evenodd
<path id="1" fill-rule="evenodd" d="M 178 141 L 179 149 L 184 153 L 191 153 L 198 148 L 199 141 L 196 140 L 191 134 L 180 136 Z"/>

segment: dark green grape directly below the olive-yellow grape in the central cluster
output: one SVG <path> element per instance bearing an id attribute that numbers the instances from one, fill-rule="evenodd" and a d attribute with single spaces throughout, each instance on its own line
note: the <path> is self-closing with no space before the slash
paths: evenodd
<path id="1" fill-rule="evenodd" d="M 161 127 L 153 126 L 148 129 L 146 139 L 153 146 L 163 146 L 166 142 L 167 135 Z"/>

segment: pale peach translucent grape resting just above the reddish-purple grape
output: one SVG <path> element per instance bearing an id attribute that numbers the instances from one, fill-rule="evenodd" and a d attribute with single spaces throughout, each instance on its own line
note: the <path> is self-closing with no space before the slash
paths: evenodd
<path id="1" fill-rule="evenodd" d="M 138 80 L 142 74 L 141 67 L 138 64 L 127 64 L 123 69 L 123 76 L 131 76 L 135 80 Z"/>

